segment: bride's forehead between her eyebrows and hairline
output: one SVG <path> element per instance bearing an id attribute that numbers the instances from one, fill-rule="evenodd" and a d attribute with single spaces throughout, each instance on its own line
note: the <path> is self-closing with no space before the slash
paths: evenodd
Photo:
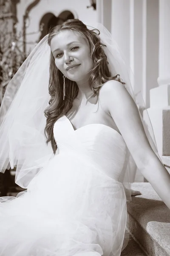
<path id="1" fill-rule="evenodd" d="M 63 49 L 71 42 L 87 45 L 87 41 L 79 33 L 71 30 L 64 30 L 60 31 L 51 39 L 51 50 L 53 52 L 55 49 Z"/>

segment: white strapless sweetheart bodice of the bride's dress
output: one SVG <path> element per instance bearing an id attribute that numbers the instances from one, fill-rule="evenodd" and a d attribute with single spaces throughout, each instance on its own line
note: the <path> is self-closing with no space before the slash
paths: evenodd
<path id="1" fill-rule="evenodd" d="M 89 124 L 77 130 L 66 116 L 54 124 L 57 154 L 83 158 L 114 179 L 127 167 L 127 146 L 121 134 L 103 124 Z"/>

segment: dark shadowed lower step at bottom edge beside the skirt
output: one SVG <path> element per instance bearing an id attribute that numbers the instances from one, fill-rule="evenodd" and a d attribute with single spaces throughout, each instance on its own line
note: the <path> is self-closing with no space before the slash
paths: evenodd
<path id="1" fill-rule="evenodd" d="M 121 256 L 146 256 L 146 254 L 130 236 L 127 247 L 122 251 Z"/>

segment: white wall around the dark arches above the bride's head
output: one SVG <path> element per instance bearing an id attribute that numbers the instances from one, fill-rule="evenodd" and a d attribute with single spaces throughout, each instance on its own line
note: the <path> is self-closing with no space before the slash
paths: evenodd
<path id="1" fill-rule="evenodd" d="M 20 0 L 17 4 L 18 32 L 22 31 L 23 15 L 25 15 L 27 7 L 33 2 L 33 0 Z M 75 18 L 79 18 L 83 22 L 96 22 L 96 11 L 93 7 L 87 9 L 87 6 L 90 6 L 89 0 L 40 0 L 40 2 L 29 12 L 30 19 L 28 28 L 26 29 L 26 34 L 38 32 L 40 29 L 40 20 L 42 16 L 48 12 L 53 13 L 57 17 L 61 12 L 67 10 L 72 12 Z M 39 36 L 40 33 L 27 35 L 26 41 L 32 41 L 34 43 L 37 41 Z M 34 44 L 27 44 L 26 52 L 33 48 Z"/>

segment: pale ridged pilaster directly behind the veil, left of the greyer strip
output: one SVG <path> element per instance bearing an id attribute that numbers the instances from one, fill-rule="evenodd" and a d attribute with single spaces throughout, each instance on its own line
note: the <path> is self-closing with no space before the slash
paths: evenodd
<path id="1" fill-rule="evenodd" d="M 130 77 L 134 93 L 143 91 L 144 87 L 146 33 L 143 26 L 143 0 L 112 0 L 111 32 L 134 74 Z"/>

